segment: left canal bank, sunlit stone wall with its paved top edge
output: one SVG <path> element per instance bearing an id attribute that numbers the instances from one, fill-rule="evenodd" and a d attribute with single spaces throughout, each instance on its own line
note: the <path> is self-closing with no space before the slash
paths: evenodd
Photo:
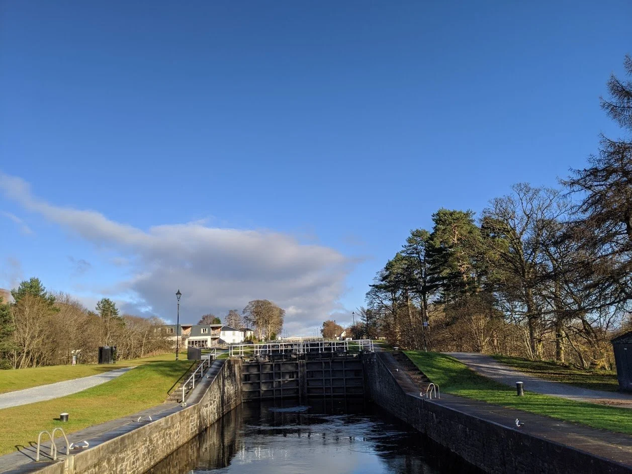
<path id="1" fill-rule="evenodd" d="M 56 439 L 59 461 L 32 462 L 34 449 L 24 448 L 20 453 L 2 456 L 0 471 L 6 474 L 142 474 L 179 446 L 208 428 L 223 415 L 241 404 L 241 361 L 218 360 L 212 363 L 205 377 L 198 381 L 187 399 L 186 406 L 161 406 L 148 413 L 113 420 L 99 426 L 76 432 L 70 436 L 82 441 L 83 434 L 98 430 L 88 438 L 87 449 L 73 449 L 66 456 L 63 439 Z M 151 412 L 152 414 L 150 414 Z M 83 444 L 83 443 L 79 443 Z M 43 453 L 48 452 L 42 449 Z M 9 470 L 2 469 L 5 459 L 21 456 L 26 463 L 15 463 Z"/>

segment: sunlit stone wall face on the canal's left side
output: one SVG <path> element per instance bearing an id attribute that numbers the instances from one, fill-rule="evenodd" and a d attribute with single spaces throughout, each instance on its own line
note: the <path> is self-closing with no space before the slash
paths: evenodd
<path id="1" fill-rule="evenodd" d="M 240 361 L 223 361 L 198 403 L 47 466 L 46 472 L 145 473 L 241 403 L 240 374 Z"/>

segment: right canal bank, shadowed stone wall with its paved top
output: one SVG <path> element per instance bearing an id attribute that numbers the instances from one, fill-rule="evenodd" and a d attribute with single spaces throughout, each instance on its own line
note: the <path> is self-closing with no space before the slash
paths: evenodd
<path id="1" fill-rule="evenodd" d="M 486 472 L 632 472 L 632 437 L 446 394 L 430 401 L 391 354 L 363 362 L 374 403 Z"/>

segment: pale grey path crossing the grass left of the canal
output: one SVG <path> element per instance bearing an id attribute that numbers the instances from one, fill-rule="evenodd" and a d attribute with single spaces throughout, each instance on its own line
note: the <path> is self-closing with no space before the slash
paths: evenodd
<path id="1" fill-rule="evenodd" d="M 80 379 L 63 380 L 63 382 L 56 382 L 54 384 L 6 392 L 0 394 L 0 409 L 64 397 L 114 380 L 132 368 L 133 367 L 117 368 L 109 372 L 104 372 L 103 374 L 90 375 L 89 377 L 81 377 Z"/>

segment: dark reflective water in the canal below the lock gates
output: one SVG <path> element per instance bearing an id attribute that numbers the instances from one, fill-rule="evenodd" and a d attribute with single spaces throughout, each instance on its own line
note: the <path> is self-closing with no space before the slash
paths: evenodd
<path id="1" fill-rule="evenodd" d="M 362 400 L 248 402 L 147 474 L 467 473 L 476 470 Z"/>

